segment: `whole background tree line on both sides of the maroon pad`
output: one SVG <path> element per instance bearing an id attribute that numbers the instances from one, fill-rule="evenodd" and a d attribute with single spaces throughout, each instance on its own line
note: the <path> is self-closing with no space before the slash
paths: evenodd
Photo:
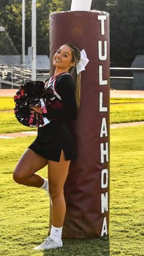
<path id="1" fill-rule="evenodd" d="M 49 13 L 70 10 L 71 0 L 37 0 L 37 54 L 49 56 Z M 129 66 L 137 54 L 144 54 L 144 1 L 143 0 L 93 0 L 92 10 L 110 14 L 110 62 Z M 21 54 L 22 0 L 3 0 L 0 6 L 0 26 L 4 26 Z M 0 54 L 13 54 L 5 47 L 0 32 Z M 26 53 L 31 46 L 31 1 L 26 0 Z M 10 52 L 11 51 L 11 52 Z"/>

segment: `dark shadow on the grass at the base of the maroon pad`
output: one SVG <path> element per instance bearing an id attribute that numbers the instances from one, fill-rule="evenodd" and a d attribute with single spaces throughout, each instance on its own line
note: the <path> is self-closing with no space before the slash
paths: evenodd
<path id="1" fill-rule="evenodd" d="M 93 239 L 63 239 L 63 247 L 45 250 L 43 256 L 109 256 L 109 236 Z"/>

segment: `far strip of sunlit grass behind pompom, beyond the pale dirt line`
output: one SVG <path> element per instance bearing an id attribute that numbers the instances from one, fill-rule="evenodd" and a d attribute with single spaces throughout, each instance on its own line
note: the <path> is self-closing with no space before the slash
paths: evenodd
<path id="1" fill-rule="evenodd" d="M 110 103 L 110 123 L 144 120 L 144 99 L 112 98 L 110 99 Z M 21 125 L 16 120 L 12 111 L 14 106 L 15 104 L 13 103 L 12 97 L 0 97 L 0 133 L 36 130 L 35 128 L 29 128 Z M 4 111 L 9 112 L 5 113 Z"/>

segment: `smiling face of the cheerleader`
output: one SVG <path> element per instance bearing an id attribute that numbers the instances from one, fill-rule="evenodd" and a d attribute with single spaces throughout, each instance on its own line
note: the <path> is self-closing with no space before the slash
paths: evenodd
<path id="1" fill-rule="evenodd" d="M 67 45 L 62 45 L 54 54 L 53 65 L 63 70 L 69 70 L 74 62 L 72 61 L 71 48 Z"/>

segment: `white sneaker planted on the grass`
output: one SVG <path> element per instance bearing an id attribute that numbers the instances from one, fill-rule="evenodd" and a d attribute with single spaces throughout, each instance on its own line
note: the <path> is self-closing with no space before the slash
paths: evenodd
<path id="1" fill-rule="evenodd" d="M 43 244 L 40 244 L 40 246 L 34 247 L 34 250 L 45 250 L 45 249 L 55 249 L 55 248 L 59 248 L 62 247 L 63 243 L 62 240 L 59 241 L 59 243 L 55 243 L 54 240 L 48 236 L 45 241 L 43 242 Z"/>

